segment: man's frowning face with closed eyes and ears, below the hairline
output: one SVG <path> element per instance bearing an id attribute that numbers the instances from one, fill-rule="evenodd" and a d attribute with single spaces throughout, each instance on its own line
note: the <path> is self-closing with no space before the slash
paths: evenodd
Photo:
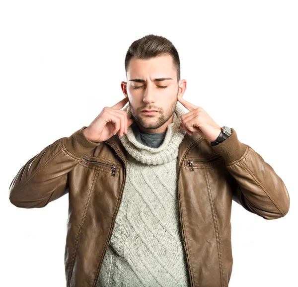
<path id="1" fill-rule="evenodd" d="M 133 119 L 141 130 L 164 132 L 172 122 L 178 94 L 186 89 L 186 81 L 177 82 L 177 71 L 170 55 L 142 60 L 132 58 L 127 72 L 128 82 L 121 87 L 129 98 Z M 165 87 L 165 88 L 163 88 Z M 144 109 L 156 110 L 146 114 Z"/>

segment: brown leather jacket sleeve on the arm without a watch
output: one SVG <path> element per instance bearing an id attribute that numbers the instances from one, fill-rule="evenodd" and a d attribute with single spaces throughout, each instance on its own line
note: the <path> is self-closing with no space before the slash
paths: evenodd
<path id="1" fill-rule="evenodd" d="M 68 193 L 68 173 L 85 153 L 100 145 L 84 136 L 85 128 L 56 140 L 19 170 L 9 186 L 9 200 L 13 205 L 44 207 Z"/>

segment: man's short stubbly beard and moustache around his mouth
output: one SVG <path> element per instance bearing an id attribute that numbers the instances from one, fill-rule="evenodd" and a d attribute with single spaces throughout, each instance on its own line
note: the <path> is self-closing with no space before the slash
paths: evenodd
<path id="1" fill-rule="evenodd" d="M 178 90 L 179 92 L 179 90 Z M 141 128 L 142 130 L 146 129 L 157 129 L 161 127 L 163 124 L 165 124 L 170 117 L 173 115 L 176 105 L 177 105 L 177 98 L 178 98 L 178 92 L 176 95 L 175 100 L 168 106 L 165 112 L 162 110 L 157 110 L 158 113 L 155 113 L 154 115 L 147 115 L 145 117 L 140 116 L 140 112 L 136 112 L 136 110 L 132 107 L 132 105 L 129 103 L 131 112 L 132 112 L 132 119 L 136 122 L 136 124 Z M 144 108 L 142 107 L 142 110 Z M 148 107 L 148 109 L 155 109 L 154 107 Z"/>

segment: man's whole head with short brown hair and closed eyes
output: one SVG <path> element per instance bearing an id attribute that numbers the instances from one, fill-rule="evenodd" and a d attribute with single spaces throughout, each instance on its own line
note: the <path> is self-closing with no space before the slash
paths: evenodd
<path id="1" fill-rule="evenodd" d="M 134 41 L 125 57 L 125 72 L 127 82 L 122 82 L 121 88 L 139 128 L 166 131 L 178 95 L 183 96 L 186 90 L 186 80 L 180 81 L 179 55 L 172 42 L 152 34 Z M 145 114 L 144 109 L 157 112 Z"/>

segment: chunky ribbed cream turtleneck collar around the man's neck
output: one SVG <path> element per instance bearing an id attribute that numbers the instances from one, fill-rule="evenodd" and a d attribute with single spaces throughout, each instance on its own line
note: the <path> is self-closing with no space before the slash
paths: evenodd
<path id="1" fill-rule="evenodd" d="M 122 110 L 127 112 L 128 118 L 133 119 L 129 102 L 126 103 Z M 180 127 L 181 116 L 185 113 L 183 105 L 177 101 L 173 113 L 173 121 L 167 126 L 164 140 L 158 148 L 151 148 L 139 142 L 131 125 L 128 127 L 127 134 L 123 134 L 122 137 L 118 136 L 119 140 L 127 152 L 142 163 L 159 165 L 170 162 L 178 157 L 179 145 L 186 134 L 186 131 Z"/>

